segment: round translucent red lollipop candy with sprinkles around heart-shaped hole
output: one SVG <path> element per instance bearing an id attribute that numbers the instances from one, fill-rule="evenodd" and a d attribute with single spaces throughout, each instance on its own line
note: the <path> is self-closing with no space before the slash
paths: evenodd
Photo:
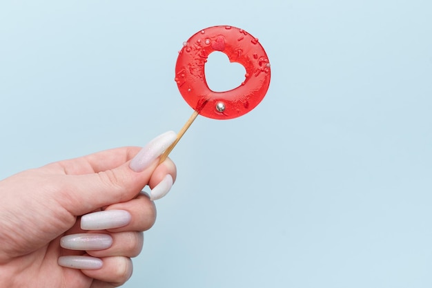
<path id="1" fill-rule="evenodd" d="M 224 52 L 230 62 L 242 64 L 245 79 L 233 90 L 208 88 L 204 66 L 211 52 Z M 213 26 L 185 41 L 175 65 L 175 81 L 181 96 L 200 115 L 213 119 L 242 116 L 264 98 L 270 84 L 270 63 L 257 38 L 232 26 Z"/>

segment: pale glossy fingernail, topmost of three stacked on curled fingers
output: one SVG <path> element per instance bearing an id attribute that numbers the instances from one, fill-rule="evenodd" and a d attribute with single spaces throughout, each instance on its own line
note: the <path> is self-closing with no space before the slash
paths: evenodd
<path id="1" fill-rule="evenodd" d="M 81 216 L 81 229 L 104 230 L 124 227 L 132 216 L 125 210 L 105 210 Z"/>

